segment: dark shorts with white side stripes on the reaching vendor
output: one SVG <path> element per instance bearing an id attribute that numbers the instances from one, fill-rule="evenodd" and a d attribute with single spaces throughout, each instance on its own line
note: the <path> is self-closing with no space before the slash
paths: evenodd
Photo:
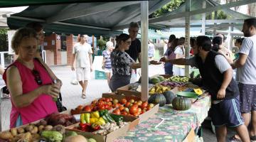
<path id="1" fill-rule="evenodd" d="M 210 117 L 214 126 L 235 127 L 244 124 L 239 109 L 239 99 L 225 99 L 210 107 Z"/>

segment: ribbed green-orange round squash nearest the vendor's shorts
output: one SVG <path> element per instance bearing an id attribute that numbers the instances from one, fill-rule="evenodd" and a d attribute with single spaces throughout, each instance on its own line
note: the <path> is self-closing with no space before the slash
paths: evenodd
<path id="1" fill-rule="evenodd" d="M 191 108 L 191 100 L 186 97 L 175 97 L 172 105 L 176 110 L 186 111 Z"/>

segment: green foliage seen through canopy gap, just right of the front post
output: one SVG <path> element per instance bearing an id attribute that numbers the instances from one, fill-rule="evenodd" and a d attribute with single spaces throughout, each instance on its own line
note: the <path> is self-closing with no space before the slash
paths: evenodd
<path id="1" fill-rule="evenodd" d="M 156 12 L 152 13 L 149 18 L 154 18 L 163 15 L 164 13 L 169 13 L 174 9 L 177 9 L 181 4 L 183 4 L 185 0 L 171 0 L 168 4 L 161 7 L 161 9 L 157 10 Z"/>

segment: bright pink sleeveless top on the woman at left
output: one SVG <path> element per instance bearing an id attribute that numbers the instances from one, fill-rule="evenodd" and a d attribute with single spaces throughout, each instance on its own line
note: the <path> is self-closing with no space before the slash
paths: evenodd
<path id="1" fill-rule="evenodd" d="M 41 65 L 37 60 L 33 60 L 34 70 L 39 72 L 41 80 L 43 84 L 50 84 L 52 80 L 48 75 L 46 69 Z M 21 62 L 15 61 L 11 65 L 14 65 L 18 68 L 18 72 L 21 76 L 22 82 L 22 90 L 23 94 L 33 91 L 34 89 L 40 87 L 36 83 L 35 77 L 32 74 L 32 70 L 21 64 Z M 10 65 L 10 66 L 11 66 Z M 10 67 L 9 66 L 9 67 Z M 6 82 L 6 72 L 3 75 L 4 81 Z M 7 84 L 8 86 L 9 84 Z M 57 110 L 56 104 L 53 101 L 53 98 L 48 94 L 41 94 L 38 98 L 36 98 L 29 106 L 23 108 L 16 108 L 14 103 L 11 100 L 11 115 L 10 115 L 10 128 L 14 128 L 16 125 L 16 120 L 18 119 L 18 115 L 21 115 L 21 120 L 23 125 L 29 124 L 33 121 L 37 121 L 39 119 L 43 119 L 49 114 L 52 114 Z"/>

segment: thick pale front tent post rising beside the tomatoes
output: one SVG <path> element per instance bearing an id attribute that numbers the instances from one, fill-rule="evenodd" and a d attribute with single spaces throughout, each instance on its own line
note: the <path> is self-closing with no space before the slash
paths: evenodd
<path id="1" fill-rule="evenodd" d="M 149 96 L 149 63 L 148 63 L 148 29 L 149 29 L 149 1 L 141 1 L 141 31 L 142 31 L 142 101 Z"/>

